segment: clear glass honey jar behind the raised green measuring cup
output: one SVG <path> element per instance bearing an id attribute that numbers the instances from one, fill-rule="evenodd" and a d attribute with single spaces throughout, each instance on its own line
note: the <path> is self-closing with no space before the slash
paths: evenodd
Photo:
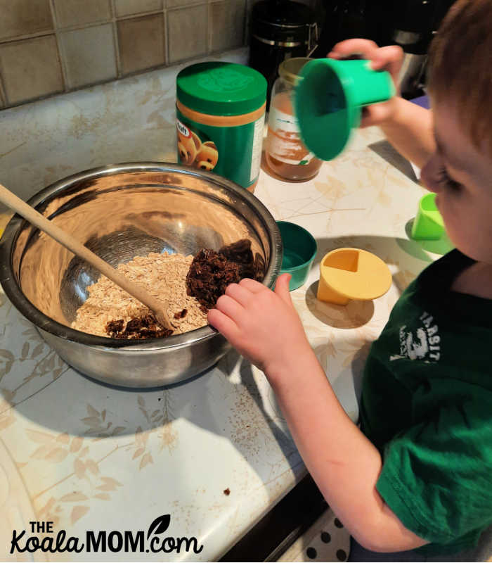
<path id="1" fill-rule="evenodd" d="M 294 115 L 294 93 L 299 72 L 311 59 L 287 59 L 278 67 L 273 84 L 268 115 L 265 158 L 268 167 L 278 176 L 303 182 L 318 174 L 323 163 L 302 143 L 299 123 Z"/>

